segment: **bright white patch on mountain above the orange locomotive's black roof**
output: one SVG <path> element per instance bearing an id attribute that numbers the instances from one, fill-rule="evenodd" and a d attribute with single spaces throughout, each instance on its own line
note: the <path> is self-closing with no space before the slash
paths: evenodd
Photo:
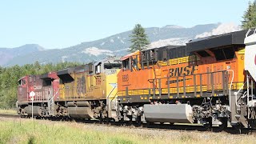
<path id="1" fill-rule="evenodd" d="M 202 34 L 198 34 L 195 38 L 204 38 L 209 37 L 211 35 L 218 35 L 218 34 L 226 34 L 234 31 L 241 30 L 240 26 L 235 25 L 234 23 L 222 23 L 216 29 L 211 30 L 210 32 L 204 32 Z"/>

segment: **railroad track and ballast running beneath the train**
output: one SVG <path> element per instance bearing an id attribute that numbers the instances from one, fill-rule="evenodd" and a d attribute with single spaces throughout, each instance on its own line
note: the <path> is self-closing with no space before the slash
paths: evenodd
<path id="1" fill-rule="evenodd" d="M 21 118 L 20 115 L 17 114 L 0 114 L 0 118 Z M 50 121 L 68 121 L 68 122 L 79 122 L 79 123 L 90 123 L 95 125 L 107 125 L 107 126 L 122 126 L 122 127 L 130 127 L 130 128 L 136 128 L 136 129 L 151 129 L 151 130 L 182 130 L 182 131 L 202 131 L 202 132 L 222 132 L 222 133 L 228 133 L 228 134 L 255 134 L 256 130 L 248 130 L 248 129 L 235 129 L 234 127 L 227 127 L 225 130 L 218 130 L 218 127 L 212 127 L 211 129 L 206 128 L 202 125 L 196 125 L 196 124 L 146 124 L 142 123 L 141 125 L 138 125 L 136 123 L 122 123 L 122 122 L 100 122 L 98 120 L 74 120 L 74 119 L 63 119 L 63 118 L 36 118 L 38 120 L 46 119 Z"/>

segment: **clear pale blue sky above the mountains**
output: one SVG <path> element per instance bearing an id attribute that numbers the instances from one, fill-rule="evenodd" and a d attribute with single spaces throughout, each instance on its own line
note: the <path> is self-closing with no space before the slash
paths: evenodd
<path id="1" fill-rule="evenodd" d="M 65 48 L 143 27 L 234 22 L 250 0 L 0 0 L 0 47 Z"/>

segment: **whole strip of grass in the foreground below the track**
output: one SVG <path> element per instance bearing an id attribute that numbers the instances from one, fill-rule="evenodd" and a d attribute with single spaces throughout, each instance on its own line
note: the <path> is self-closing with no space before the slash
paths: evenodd
<path id="1" fill-rule="evenodd" d="M 130 129 L 77 122 L 1 119 L 0 143 L 254 143 L 253 135 Z M 162 132 L 164 134 L 162 134 Z"/>

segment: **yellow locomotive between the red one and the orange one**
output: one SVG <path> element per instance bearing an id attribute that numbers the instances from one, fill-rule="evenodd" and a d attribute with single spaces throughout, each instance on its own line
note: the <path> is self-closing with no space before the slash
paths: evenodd
<path id="1" fill-rule="evenodd" d="M 73 118 L 111 118 L 120 66 L 116 58 L 106 58 L 58 71 L 60 88 L 56 114 Z"/>

